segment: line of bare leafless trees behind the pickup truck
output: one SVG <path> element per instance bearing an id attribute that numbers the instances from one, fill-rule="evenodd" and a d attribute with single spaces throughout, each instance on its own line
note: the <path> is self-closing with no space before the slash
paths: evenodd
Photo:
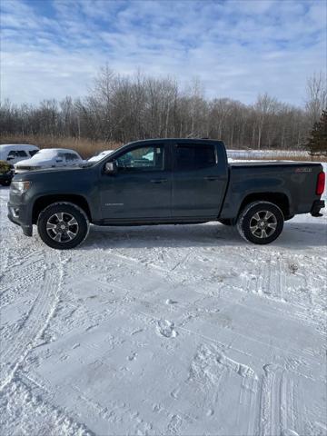
<path id="1" fill-rule="evenodd" d="M 50 135 L 126 143 L 157 137 L 221 139 L 228 148 L 302 149 L 326 107 L 322 74 L 308 80 L 303 107 L 259 94 L 254 104 L 204 97 L 194 79 L 186 89 L 170 77 L 123 76 L 104 67 L 84 98 L 0 104 L 1 135 Z"/>

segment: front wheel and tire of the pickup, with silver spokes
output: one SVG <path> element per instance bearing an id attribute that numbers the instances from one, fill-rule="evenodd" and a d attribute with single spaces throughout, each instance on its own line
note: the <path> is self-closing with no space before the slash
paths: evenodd
<path id="1" fill-rule="evenodd" d="M 84 242 L 89 231 L 84 210 L 74 203 L 53 203 L 45 207 L 37 220 L 37 231 L 46 245 L 70 250 Z"/>

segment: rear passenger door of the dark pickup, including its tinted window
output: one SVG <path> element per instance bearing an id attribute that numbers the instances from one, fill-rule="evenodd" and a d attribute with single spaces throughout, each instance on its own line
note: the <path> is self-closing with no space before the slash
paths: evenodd
<path id="1" fill-rule="evenodd" d="M 228 180 L 226 158 L 216 144 L 173 147 L 173 218 L 216 219 Z"/>

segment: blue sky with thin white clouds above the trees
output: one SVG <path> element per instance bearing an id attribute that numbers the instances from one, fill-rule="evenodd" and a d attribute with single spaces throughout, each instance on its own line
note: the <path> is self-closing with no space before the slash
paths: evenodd
<path id="1" fill-rule="evenodd" d="M 326 69 L 325 0 L 2 0 L 1 99 L 84 96 L 101 66 L 140 69 L 207 97 L 268 92 L 302 105 Z"/>

